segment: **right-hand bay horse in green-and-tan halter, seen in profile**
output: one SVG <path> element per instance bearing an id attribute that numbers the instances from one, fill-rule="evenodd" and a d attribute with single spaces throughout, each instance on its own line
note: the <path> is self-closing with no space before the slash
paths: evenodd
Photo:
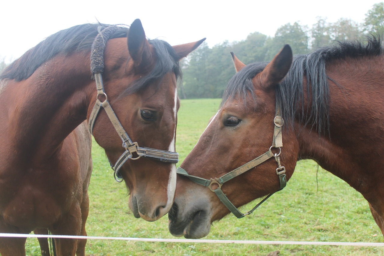
<path id="1" fill-rule="evenodd" d="M 202 238 L 230 212 L 251 214 L 286 186 L 296 161 L 313 159 L 364 196 L 384 235 L 380 38 L 295 57 L 285 45 L 270 63 L 232 57 L 237 73 L 220 108 L 177 170 L 170 233 Z M 263 196 L 247 213 L 237 209 Z"/>

